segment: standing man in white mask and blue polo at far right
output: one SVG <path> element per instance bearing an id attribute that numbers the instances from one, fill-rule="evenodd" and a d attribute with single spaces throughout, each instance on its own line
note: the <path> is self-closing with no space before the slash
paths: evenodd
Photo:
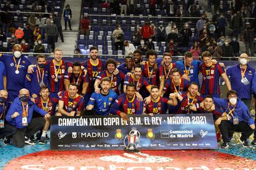
<path id="1" fill-rule="evenodd" d="M 229 76 L 231 88 L 237 91 L 237 97 L 241 99 L 247 107 L 250 108 L 252 98 L 252 79 L 255 70 L 248 65 L 249 57 L 247 54 L 241 54 L 239 63 L 226 70 Z"/>

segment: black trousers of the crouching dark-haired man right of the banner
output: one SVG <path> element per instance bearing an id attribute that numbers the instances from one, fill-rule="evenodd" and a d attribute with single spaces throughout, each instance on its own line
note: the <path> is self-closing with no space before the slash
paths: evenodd
<path id="1" fill-rule="evenodd" d="M 221 136 L 224 142 L 229 142 L 228 132 L 242 132 L 241 139 L 246 140 L 250 137 L 250 135 L 254 132 L 252 128 L 248 125 L 248 123 L 242 121 L 239 124 L 234 125 L 230 121 L 221 121 L 219 125 Z"/>

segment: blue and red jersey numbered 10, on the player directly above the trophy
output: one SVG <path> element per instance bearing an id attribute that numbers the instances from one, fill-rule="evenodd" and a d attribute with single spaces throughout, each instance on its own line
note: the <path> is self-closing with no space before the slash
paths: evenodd
<path id="1" fill-rule="evenodd" d="M 127 115 L 142 115 L 143 102 L 137 100 L 136 95 L 134 95 L 134 98 L 129 102 L 126 94 L 121 94 L 111 106 L 110 113 L 120 115 L 121 111 Z"/>

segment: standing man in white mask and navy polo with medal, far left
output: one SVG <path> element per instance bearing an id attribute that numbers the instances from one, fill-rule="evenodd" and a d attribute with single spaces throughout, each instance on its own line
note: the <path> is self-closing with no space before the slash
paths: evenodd
<path id="1" fill-rule="evenodd" d="M 11 55 L 0 54 L 0 60 L 6 67 L 8 102 L 12 102 L 19 95 L 20 89 L 25 88 L 24 79 L 28 66 L 32 64 L 27 57 L 22 55 L 20 44 L 12 47 L 12 53 Z"/>

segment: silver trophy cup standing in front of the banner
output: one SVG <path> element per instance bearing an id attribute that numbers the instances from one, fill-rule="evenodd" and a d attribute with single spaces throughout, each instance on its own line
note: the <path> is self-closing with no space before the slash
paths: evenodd
<path id="1" fill-rule="evenodd" d="M 128 140 L 128 145 L 126 145 L 126 139 Z M 126 152 L 139 152 L 137 149 L 140 145 L 140 132 L 137 131 L 135 127 L 124 138 L 124 145 L 126 146 Z"/>

